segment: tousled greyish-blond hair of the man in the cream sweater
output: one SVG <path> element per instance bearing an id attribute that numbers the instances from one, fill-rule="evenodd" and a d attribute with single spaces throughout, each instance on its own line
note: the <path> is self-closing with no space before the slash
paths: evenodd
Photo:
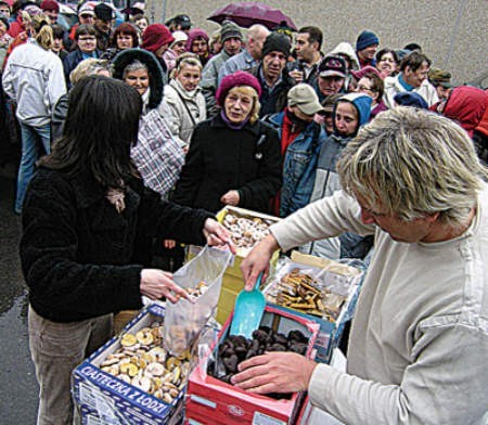
<path id="1" fill-rule="evenodd" d="M 488 170 L 457 124 L 427 111 L 396 107 L 380 114 L 348 143 L 337 163 L 343 188 L 372 208 L 406 221 L 439 212 L 462 226 Z"/>

